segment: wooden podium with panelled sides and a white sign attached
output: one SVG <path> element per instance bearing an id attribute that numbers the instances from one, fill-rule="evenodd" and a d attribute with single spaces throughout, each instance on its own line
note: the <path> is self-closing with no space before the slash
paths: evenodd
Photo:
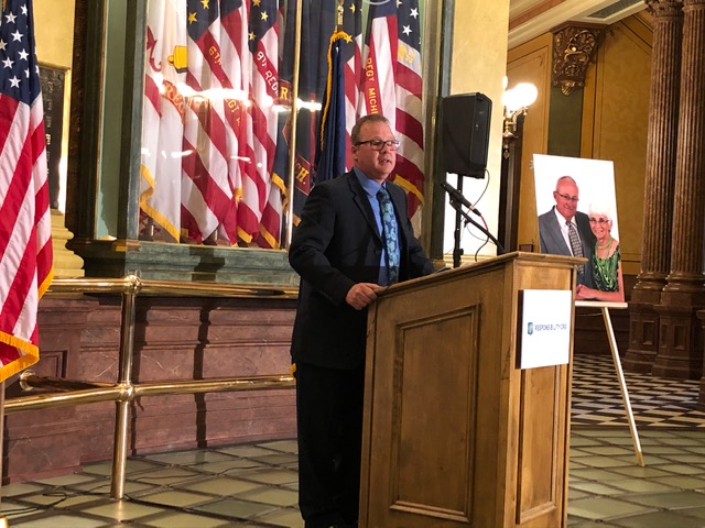
<path id="1" fill-rule="evenodd" d="M 581 262 L 511 253 L 380 295 L 360 528 L 566 526 L 571 365 L 519 370 L 519 293 L 574 293 Z"/>

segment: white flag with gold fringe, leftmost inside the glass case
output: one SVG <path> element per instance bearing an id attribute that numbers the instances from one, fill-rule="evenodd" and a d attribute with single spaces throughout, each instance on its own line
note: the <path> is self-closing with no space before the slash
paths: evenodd
<path id="1" fill-rule="evenodd" d="M 150 0 L 142 105 L 140 209 L 149 219 L 145 234 L 163 240 L 181 234 L 181 162 L 186 81 L 186 4 Z"/>

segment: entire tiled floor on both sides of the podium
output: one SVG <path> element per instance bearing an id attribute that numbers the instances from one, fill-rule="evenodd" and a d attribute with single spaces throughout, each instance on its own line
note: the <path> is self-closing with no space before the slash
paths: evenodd
<path id="1" fill-rule="evenodd" d="M 567 526 L 705 527 L 698 383 L 626 377 L 644 468 L 611 356 L 574 359 Z M 2 486 L 0 516 L 13 528 L 303 528 L 296 449 L 289 439 L 131 457 L 122 501 L 109 496 L 111 461 L 85 464 Z"/>

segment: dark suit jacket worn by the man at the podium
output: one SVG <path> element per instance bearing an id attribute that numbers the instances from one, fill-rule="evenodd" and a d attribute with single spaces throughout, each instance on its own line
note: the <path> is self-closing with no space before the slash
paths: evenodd
<path id="1" fill-rule="evenodd" d="M 400 280 L 433 273 L 413 234 L 404 190 L 388 182 L 401 242 Z M 382 239 L 365 189 L 354 173 L 316 185 L 295 228 L 289 262 L 301 276 L 292 358 L 328 369 L 365 360 L 367 309 L 345 301 L 357 283 L 378 282 Z"/>

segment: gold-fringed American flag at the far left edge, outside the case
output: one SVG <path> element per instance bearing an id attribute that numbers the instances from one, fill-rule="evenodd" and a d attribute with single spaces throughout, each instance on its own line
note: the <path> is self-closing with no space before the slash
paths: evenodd
<path id="1" fill-rule="evenodd" d="M 31 0 L 0 19 L 0 381 L 39 360 L 37 305 L 52 282 L 52 221 Z"/>

